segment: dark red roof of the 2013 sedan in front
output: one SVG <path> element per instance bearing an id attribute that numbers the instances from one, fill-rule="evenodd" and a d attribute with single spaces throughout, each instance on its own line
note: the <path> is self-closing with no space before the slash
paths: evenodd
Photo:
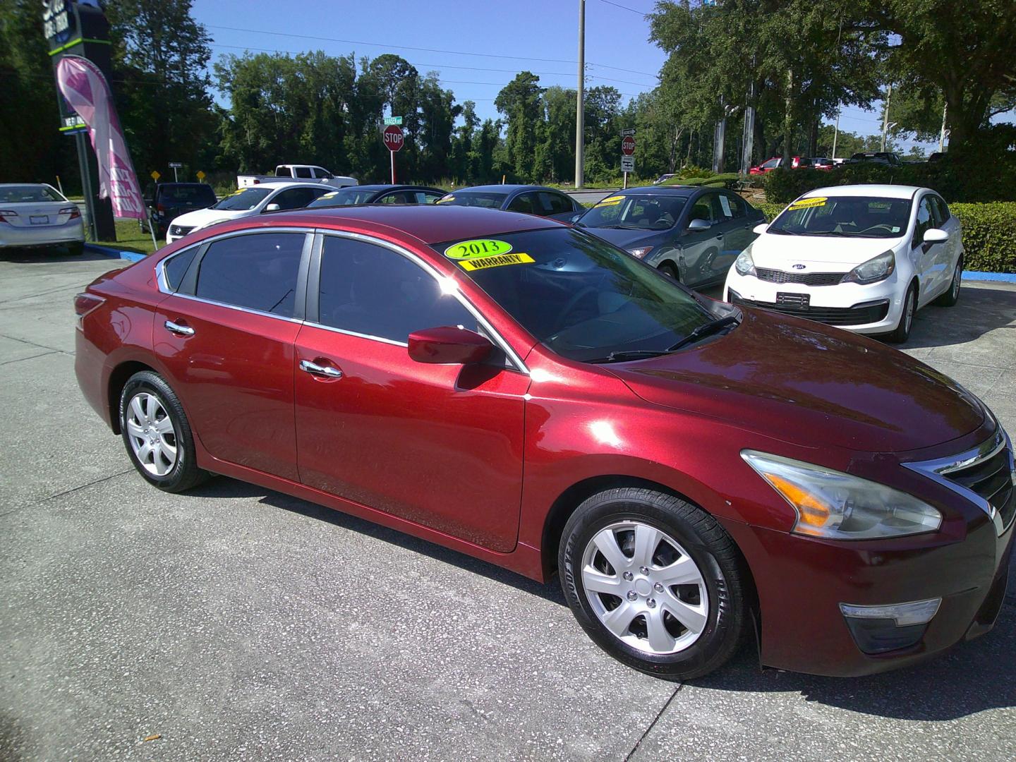
<path id="1" fill-rule="evenodd" d="M 306 225 L 336 229 L 357 228 L 360 227 L 359 224 L 366 224 L 368 228 L 388 228 L 407 234 L 425 244 L 564 227 L 557 220 L 532 214 L 447 204 L 326 206 L 287 211 L 270 218 L 272 221 L 277 220 L 280 226 Z M 265 217 L 259 219 L 264 220 Z"/>

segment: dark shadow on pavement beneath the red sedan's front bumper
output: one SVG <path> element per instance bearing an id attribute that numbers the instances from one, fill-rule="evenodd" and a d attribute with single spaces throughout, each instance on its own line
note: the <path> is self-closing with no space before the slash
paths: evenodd
<path id="1" fill-rule="evenodd" d="M 1016 606 L 1007 598 L 994 630 L 915 666 L 864 678 L 822 678 L 760 669 L 752 644 L 727 666 L 690 685 L 719 691 L 799 693 L 807 701 L 894 719 L 951 720 L 1016 706 L 1014 651 Z"/>

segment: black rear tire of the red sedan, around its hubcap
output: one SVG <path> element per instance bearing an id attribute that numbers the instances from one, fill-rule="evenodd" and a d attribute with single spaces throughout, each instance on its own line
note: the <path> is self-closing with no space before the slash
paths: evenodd
<path id="1" fill-rule="evenodd" d="M 155 397 L 162 406 L 165 418 L 170 420 L 173 427 L 172 440 L 176 449 L 175 462 L 163 474 L 153 472 L 152 469 L 149 469 L 141 462 L 131 442 L 132 435 L 128 430 L 128 417 L 132 415 L 132 400 L 141 394 Z M 141 397 L 141 399 L 144 400 L 145 397 Z M 144 403 L 141 402 L 141 404 L 143 405 Z M 160 422 L 163 420 L 157 418 L 157 416 L 153 416 L 152 419 Z M 127 379 L 127 383 L 124 384 L 123 391 L 120 393 L 120 432 L 124 440 L 124 446 L 127 448 L 127 456 L 134 464 L 134 467 L 137 468 L 138 473 L 146 482 L 157 487 L 160 490 L 164 490 L 165 492 L 184 492 L 199 485 L 211 475 L 202 468 L 197 467 L 194 455 L 194 437 L 191 433 L 190 423 L 187 421 L 187 416 L 184 414 L 184 408 L 180 404 L 176 393 L 157 373 L 140 371 Z M 154 437 L 157 435 L 153 433 L 150 436 Z M 169 435 L 165 435 L 164 439 L 169 440 Z M 158 455 L 156 454 L 154 457 L 158 457 Z M 163 460 L 161 462 L 165 464 L 166 461 Z"/>

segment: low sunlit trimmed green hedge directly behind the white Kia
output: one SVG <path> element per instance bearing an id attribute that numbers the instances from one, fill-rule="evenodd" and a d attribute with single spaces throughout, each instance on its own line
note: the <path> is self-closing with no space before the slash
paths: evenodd
<path id="1" fill-rule="evenodd" d="M 755 204 L 770 223 L 786 204 Z M 1016 272 L 1016 201 L 949 204 L 963 226 L 963 269 Z"/>

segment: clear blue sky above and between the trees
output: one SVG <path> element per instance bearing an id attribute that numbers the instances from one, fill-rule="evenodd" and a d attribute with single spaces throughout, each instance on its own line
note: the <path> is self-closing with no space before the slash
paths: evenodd
<path id="1" fill-rule="evenodd" d="M 613 85 L 625 101 L 655 86 L 665 56 L 648 42 L 643 14 L 653 5 L 586 0 L 587 86 Z M 544 85 L 574 87 L 577 80 L 578 0 L 196 0 L 194 16 L 214 39 L 216 58 L 244 50 L 396 53 L 422 73 L 438 72 L 458 103 L 475 102 L 481 118 L 497 117 L 494 99 L 523 69 L 538 72 Z M 875 107 L 845 108 L 840 129 L 880 133 Z"/>

